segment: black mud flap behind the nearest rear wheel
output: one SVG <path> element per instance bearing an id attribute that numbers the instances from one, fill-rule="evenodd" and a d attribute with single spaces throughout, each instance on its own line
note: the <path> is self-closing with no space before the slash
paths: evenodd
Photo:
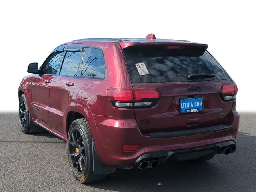
<path id="1" fill-rule="evenodd" d="M 114 173 L 116 172 L 115 167 L 108 167 L 101 164 L 97 151 L 94 145 L 94 140 L 92 140 L 92 160 L 93 160 L 93 172 L 96 175 L 99 174 L 108 174 L 108 173 Z"/>

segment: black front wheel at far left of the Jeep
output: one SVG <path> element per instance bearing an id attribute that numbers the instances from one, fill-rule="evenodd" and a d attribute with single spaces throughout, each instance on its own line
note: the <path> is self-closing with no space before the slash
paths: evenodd
<path id="1" fill-rule="evenodd" d="M 28 104 L 26 101 L 25 94 L 22 94 L 19 100 L 19 121 L 20 121 L 21 131 L 26 134 L 30 133 L 29 111 L 28 111 Z"/>

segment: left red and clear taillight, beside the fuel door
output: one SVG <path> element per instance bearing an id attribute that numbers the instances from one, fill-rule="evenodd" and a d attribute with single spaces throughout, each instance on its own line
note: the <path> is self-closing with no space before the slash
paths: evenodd
<path id="1" fill-rule="evenodd" d="M 154 106 L 159 98 L 158 90 L 139 90 L 108 88 L 108 98 L 114 107 L 151 107 Z"/>

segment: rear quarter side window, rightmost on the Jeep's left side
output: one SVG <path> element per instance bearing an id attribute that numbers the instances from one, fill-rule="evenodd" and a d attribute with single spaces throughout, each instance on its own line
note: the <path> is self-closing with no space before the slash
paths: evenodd
<path id="1" fill-rule="evenodd" d="M 96 78 L 104 78 L 106 76 L 102 50 L 85 48 L 81 76 Z"/>

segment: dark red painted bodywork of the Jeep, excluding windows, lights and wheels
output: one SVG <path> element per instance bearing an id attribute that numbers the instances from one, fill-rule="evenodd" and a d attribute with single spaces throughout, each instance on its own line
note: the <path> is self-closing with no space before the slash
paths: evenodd
<path id="1" fill-rule="evenodd" d="M 232 135 L 239 126 L 239 115 L 235 111 L 236 100 L 224 102 L 220 96 L 222 85 L 233 83 L 232 79 L 132 84 L 122 49 L 141 44 L 208 47 L 206 44 L 158 39 L 81 40 L 63 44 L 102 49 L 106 78 L 38 74 L 26 76 L 20 84 L 19 91 L 26 95 L 32 120 L 66 140 L 69 112 L 82 114 L 88 120 L 100 161 L 109 166 L 132 164 L 136 158 L 150 152 L 200 147 L 230 140 L 236 142 Z M 66 82 L 72 82 L 74 86 L 67 86 Z M 202 91 L 193 93 L 193 97 L 203 98 L 203 112 L 180 114 L 179 99 L 192 95 L 186 90 L 188 85 L 201 86 Z M 155 88 L 160 91 L 161 97 L 151 108 L 116 108 L 107 96 L 108 88 Z M 219 115 L 223 113 L 223 116 Z M 144 120 L 149 123 L 146 124 Z M 208 134 L 174 138 L 153 139 L 147 134 L 218 124 L 227 124 L 230 128 Z M 137 144 L 140 147 L 135 152 L 122 150 L 122 145 Z"/>

